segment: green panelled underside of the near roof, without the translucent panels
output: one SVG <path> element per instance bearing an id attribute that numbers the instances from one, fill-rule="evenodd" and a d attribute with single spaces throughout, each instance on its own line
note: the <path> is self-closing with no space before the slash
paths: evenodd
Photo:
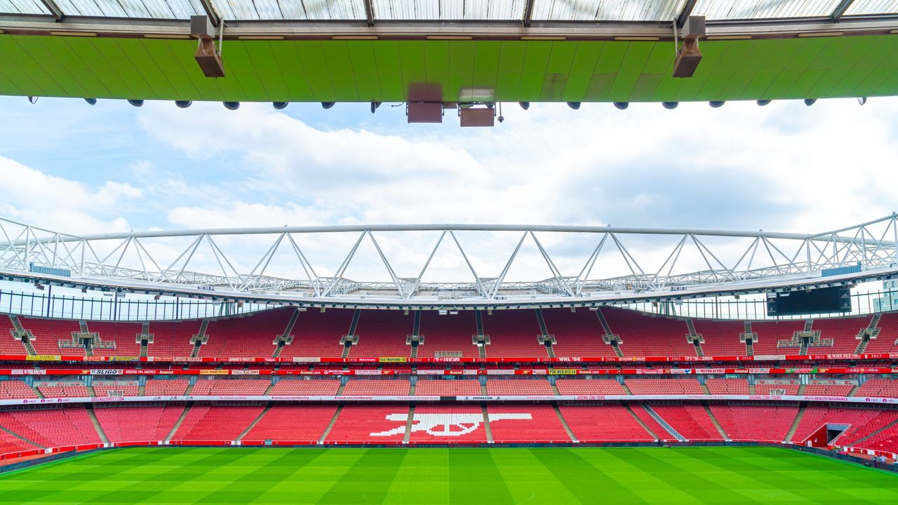
<path id="1" fill-rule="evenodd" d="M 222 79 L 195 40 L 0 35 L 0 93 L 235 102 L 403 102 L 439 84 L 497 102 L 688 102 L 898 94 L 898 36 L 703 40 L 671 77 L 674 44 L 521 40 L 225 40 Z M 480 93 L 479 93 L 480 94 Z M 438 97 L 430 100 L 440 100 Z"/>

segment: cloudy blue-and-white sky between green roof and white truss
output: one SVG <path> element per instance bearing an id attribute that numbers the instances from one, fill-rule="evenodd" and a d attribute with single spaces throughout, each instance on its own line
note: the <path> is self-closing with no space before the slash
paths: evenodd
<path id="1" fill-rule="evenodd" d="M 442 125 L 407 125 L 404 108 L 389 104 L 372 115 L 367 104 L 227 111 L 4 97 L 0 108 L 0 216 L 71 233 L 408 223 L 816 232 L 898 209 L 894 98 L 674 111 L 505 104 L 505 122 L 489 129 L 459 128 L 451 114 Z M 465 247 L 480 248 L 475 265 L 489 277 L 516 239 L 470 238 Z M 400 275 L 414 277 L 433 240 L 382 245 Z M 546 245 L 574 274 L 594 247 Z M 342 260 L 342 250 L 306 246 L 324 273 Z M 163 258 L 177 249 L 159 247 Z M 238 270 L 256 260 L 235 259 Z M 522 277 L 541 278 L 522 265 Z M 455 258 L 435 268 L 463 267 Z"/>

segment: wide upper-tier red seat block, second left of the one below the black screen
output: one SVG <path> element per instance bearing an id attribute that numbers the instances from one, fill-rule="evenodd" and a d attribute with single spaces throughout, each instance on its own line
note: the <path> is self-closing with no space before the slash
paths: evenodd
<path id="1" fill-rule="evenodd" d="M 621 308 L 600 309 L 615 335 L 621 338 L 624 356 L 695 356 L 686 339 L 689 328 L 682 319 L 652 317 Z"/>

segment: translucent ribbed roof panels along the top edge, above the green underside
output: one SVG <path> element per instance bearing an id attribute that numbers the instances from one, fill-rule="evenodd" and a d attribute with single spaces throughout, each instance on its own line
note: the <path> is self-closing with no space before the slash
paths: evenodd
<path id="1" fill-rule="evenodd" d="M 0 0 L 0 13 L 225 22 L 711 22 L 898 14 L 894 0 Z"/>

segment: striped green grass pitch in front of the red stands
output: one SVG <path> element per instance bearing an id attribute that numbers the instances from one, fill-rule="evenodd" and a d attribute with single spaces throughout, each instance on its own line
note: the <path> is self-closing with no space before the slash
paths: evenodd
<path id="1" fill-rule="evenodd" d="M 898 503 L 898 475 L 771 447 L 169 448 L 0 475 L 0 503 Z"/>

